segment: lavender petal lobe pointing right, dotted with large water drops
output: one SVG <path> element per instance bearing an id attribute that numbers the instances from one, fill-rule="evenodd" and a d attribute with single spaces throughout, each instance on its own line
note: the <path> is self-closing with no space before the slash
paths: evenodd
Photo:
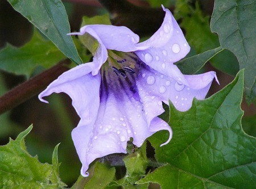
<path id="1" fill-rule="evenodd" d="M 154 107 L 154 104 L 160 104 L 161 100 L 166 104 L 171 100 L 177 110 L 187 111 L 191 108 L 194 97 L 199 100 L 205 98 L 214 78 L 216 78 L 215 72 L 207 72 L 199 75 L 184 75 L 182 81 L 177 81 L 142 65 L 141 73 L 137 77 L 137 86 L 140 95 L 144 96 L 142 102 L 148 101 L 149 108 Z M 150 98 L 151 102 L 147 100 Z M 153 110 L 157 111 L 158 108 L 155 106 Z"/>

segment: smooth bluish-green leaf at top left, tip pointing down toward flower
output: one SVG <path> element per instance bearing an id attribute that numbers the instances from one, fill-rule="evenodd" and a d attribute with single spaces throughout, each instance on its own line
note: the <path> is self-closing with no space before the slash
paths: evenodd
<path id="1" fill-rule="evenodd" d="M 61 52 L 76 64 L 81 64 L 81 58 L 72 41 L 67 12 L 60 0 L 8 0 L 13 8 L 27 18 L 49 40 L 51 40 Z"/>

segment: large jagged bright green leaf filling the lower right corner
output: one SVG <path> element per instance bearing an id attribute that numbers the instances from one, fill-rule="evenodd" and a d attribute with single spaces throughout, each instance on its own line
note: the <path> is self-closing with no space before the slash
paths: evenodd
<path id="1" fill-rule="evenodd" d="M 243 70 L 210 98 L 193 100 L 186 112 L 179 112 L 170 104 L 172 140 L 159 147 L 168 133 L 158 132 L 150 142 L 156 159 L 170 163 L 169 174 L 177 182 L 201 180 L 194 188 L 208 188 L 209 183 L 220 188 L 255 187 L 256 140 L 241 128 L 242 94 Z M 176 177 L 176 172 L 184 173 L 183 177 Z"/>

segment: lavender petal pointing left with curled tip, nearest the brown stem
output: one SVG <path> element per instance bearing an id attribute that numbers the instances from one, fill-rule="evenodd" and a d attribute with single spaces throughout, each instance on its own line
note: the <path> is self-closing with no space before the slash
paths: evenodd
<path id="1" fill-rule="evenodd" d="M 72 105 L 85 124 L 94 123 L 100 104 L 100 74 L 93 76 L 93 62 L 81 64 L 61 74 L 46 90 L 38 95 L 42 102 L 44 96 L 64 92 L 72 99 Z"/>

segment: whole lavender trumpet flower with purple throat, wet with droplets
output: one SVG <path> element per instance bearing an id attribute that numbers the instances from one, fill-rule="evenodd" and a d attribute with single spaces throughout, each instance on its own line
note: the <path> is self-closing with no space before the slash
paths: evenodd
<path id="1" fill-rule="evenodd" d="M 126 153 L 127 141 L 141 146 L 147 137 L 170 126 L 158 115 L 168 100 L 187 111 L 194 97 L 204 99 L 215 72 L 183 75 L 173 63 L 190 50 L 183 32 L 168 9 L 162 26 L 139 42 L 129 28 L 89 25 L 72 33 L 93 36 L 99 43 L 93 61 L 76 66 L 39 94 L 67 93 L 81 120 L 72 131 L 73 142 L 86 177 L 94 159 Z M 105 63 L 105 64 L 104 64 Z M 217 78 L 216 78 L 217 80 Z"/>

